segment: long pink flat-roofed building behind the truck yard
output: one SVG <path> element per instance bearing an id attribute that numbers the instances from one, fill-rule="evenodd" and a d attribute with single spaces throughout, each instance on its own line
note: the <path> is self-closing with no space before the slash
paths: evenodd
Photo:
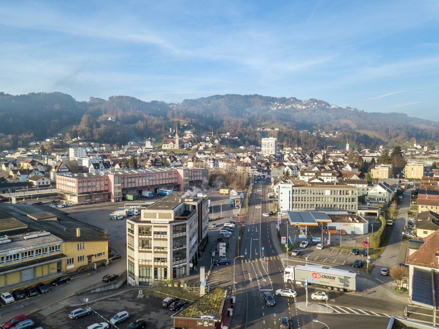
<path id="1" fill-rule="evenodd" d="M 184 192 L 202 185 L 205 169 L 130 169 L 98 174 L 58 175 L 58 197 L 71 202 L 122 201 L 122 194 L 157 193 L 158 188 Z"/>

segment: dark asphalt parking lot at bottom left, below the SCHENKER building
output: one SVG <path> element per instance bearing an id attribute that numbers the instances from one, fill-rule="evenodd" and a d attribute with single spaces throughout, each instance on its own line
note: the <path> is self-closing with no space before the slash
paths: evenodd
<path id="1" fill-rule="evenodd" d="M 130 318 L 120 322 L 116 326 L 110 324 L 110 328 L 125 329 L 131 322 L 138 318 L 143 318 L 146 321 L 145 328 L 148 329 L 169 329 L 173 327 L 173 320 L 170 318 L 174 312 L 162 307 L 161 302 L 163 298 L 149 297 L 137 298 L 138 290 L 131 290 L 126 293 L 105 297 L 93 303 L 89 303 L 94 312 L 90 315 L 84 315 L 78 319 L 68 318 L 68 313 L 79 307 L 85 307 L 84 303 L 81 306 L 68 306 L 54 313 L 49 310 L 43 310 L 29 316 L 35 322 L 35 326 L 42 326 L 47 328 L 65 328 L 65 329 L 85 329 L 89 325 L 98 322 L 107 322 L 116 313 L 120 311 L 127 311 Z M 80 297 L 77 297 L 78 299 Z M 3 319 L 2 319 L 3 320 Z"/>

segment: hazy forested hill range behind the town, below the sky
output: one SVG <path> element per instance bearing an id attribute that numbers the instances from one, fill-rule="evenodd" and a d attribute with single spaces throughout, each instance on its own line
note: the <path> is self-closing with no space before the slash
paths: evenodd
<path id="1" fill-rule="evenodd" d="M 108 121 L 112 116 L 114 121 Z M 437 140 L 439 123 L 401 113 L 371 113 L 331 106 L 325 101 L 261 95 L 215 95 L 180 104 L 113 96 L 78 102 L 62 93 L 0 93 L 0 147 L 25 146 L 62 131 L 97 142 L 125 144 L 135 138 L 163 135 L 182 120 L 197 131 L 231 132 L 244 143 L 259 144 L 258 127 L 285 128 L 272 136 L 288 145 L 321 148 L 324 141 L 300 130 L 341 131 L 340 138 L 363 147 L 384 141 Z M 187 129 L 187 128 L 186 128 Z"/>

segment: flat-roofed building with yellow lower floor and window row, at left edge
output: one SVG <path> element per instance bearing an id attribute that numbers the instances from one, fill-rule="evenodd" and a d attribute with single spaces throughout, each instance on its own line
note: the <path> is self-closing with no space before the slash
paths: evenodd
<path id="1" fill-rule="evenodd" d="M 1 220 L 16 224 L 14 218 Z M 50 232 L 39 230 L 25 234 L 0 236 L 0 287 L 43 278 L 61 271 L 62 239 Z"/>

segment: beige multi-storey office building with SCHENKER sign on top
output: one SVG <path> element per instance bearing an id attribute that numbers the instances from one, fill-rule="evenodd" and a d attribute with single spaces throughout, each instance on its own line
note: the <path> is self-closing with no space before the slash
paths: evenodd
<path id="1" fill-rule="evenodd" d="M 184 278 L 197 263 L 209 239 L 209 202 L 191 195 L 174 192 L 126 222 L 129 284 Z"/>

